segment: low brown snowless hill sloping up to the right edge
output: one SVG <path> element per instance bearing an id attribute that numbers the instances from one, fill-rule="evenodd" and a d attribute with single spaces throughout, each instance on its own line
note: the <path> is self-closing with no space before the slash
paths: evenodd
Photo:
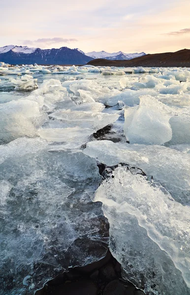
<path id="1" fill-rule="evenodd" d="M 95 66 L 185 66 L 190 67 L 190 49 L 183 49 L 177 52 L 158 54 L 147 54 L 145 56 L 130 60 L 107 60 L 94 59 L 88 64 Z"/>

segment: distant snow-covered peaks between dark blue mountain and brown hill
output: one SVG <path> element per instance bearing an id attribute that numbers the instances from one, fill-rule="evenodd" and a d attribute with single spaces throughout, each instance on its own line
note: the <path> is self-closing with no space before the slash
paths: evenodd
<path id="1" fill-rule="evenodd" d="M 88 57 L 93 58 L 93 59 L 124 60 L 124 59 L 139 58 L 139 57 L 142 57 L 142 56 L 146 55 L 146 53 L 144 53 L 144 52 L 141 52 L 141 53 L 124 53 L 122 51 L 109 53 L 109 52 L 105 52 L 105 51 L 99 51 L 99 52 L 92 51 L 92 52 L 86 53 L 86 55 Z"/>

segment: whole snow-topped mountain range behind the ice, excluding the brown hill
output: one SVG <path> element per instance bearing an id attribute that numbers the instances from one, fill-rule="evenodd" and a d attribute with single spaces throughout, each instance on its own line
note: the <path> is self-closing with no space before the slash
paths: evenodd
<path id="1" fill-rule="evenodd" d="M 92 59 L 104 58 L 109 60 L 133 59 L 145 55 L 144 52 L 138 54 L 125 54 L 122 51 L 117 53 L 107 53 L 105 51 L 84 53 L 82 50 L 68 47 L 59 49 L 29 48 L 28 46 L 8 45 L 0 47 L 0 61 L 10 64 L 86 64 Z"/>

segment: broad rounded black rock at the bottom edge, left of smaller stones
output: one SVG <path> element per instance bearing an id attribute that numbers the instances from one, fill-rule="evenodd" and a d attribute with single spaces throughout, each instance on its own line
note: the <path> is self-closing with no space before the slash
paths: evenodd
<path id="1" fill-rule="evenodd" d="M 97 286 L 91 280 L 80 280 L 64 284 L 54 290 L 52 295 L 96 295 Z"/>

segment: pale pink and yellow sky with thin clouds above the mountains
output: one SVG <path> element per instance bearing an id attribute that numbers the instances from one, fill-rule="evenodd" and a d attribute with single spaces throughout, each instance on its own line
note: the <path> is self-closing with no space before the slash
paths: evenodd
<path id="1" fill-rule="evenodd" d="M 190 0 L 0 0 L 0 47 L 190 49 Z"/>

